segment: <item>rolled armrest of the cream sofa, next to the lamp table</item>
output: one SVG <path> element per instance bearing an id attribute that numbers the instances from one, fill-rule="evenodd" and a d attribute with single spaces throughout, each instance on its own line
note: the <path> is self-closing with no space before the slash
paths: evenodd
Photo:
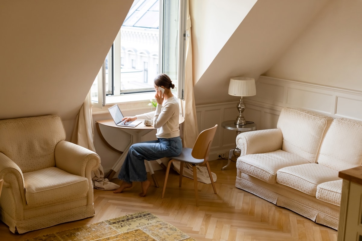
<path id="1" fill-rule="evenodd" d="M 236 146 L 241 150 L 240 156 L 280 150 L 282 144 L 281 129 L 254 130 L 236 136 Z"/>

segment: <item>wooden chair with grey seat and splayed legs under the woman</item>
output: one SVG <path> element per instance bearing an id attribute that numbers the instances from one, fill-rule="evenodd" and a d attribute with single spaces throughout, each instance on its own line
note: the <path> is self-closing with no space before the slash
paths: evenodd
<path id="1" fill-rule="evenodd" d="M 182 152 L 179 156 L 170 156 L 169 157 L 169 158 L 171 158 L 171 160 L 169 161 L 169 163 L 167 165 L 165 183 L 163 186 L 161 198 L 163 198 L 165 195 L 168 173 L 170 171 L 171 163 L 174 161 L 180 162 L 180 185 L 179 186 L 181 186 L 181 183 L 182 183 L 182 171 L 184 168 L 184 163 L 189 163 L 192 165 L 193 173 L 194 173 L 196 206 L 198 206 L 196 165 L 203 165 L 203 164 L 206 165 L 207 171 L 209 172 L 212 188 L 214 189 L 214 192 L 216 194 L 216 188 L 215 188 L 214 180 L 212 180 L 212 175 L 211 175 L 210 166 L 209 166 L 209 152 L 210 152 L 211 142 L 212 142 L 212 139 L 214 139 L 214 135 L 215 135 L 217 127 L 218 127 L 218 125 L 215 125 L 214 127 L 210 128 L 210 129 L 203 130 L 198 135 L 198 137 L 195 141 L 194 147 L 192 149 L 184 147 L 184 148 L 182 148 Z"/>

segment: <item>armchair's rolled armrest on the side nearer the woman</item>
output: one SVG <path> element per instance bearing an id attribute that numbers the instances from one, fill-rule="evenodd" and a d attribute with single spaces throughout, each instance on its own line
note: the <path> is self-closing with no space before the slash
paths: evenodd
<path id="1" fill-rule="evenodd" d="M 90 179 L 91 171 L 97 170 L 101 164 L 98 154 L 68 141 L 58 142 L 54 155 L 56 167 Z"/>

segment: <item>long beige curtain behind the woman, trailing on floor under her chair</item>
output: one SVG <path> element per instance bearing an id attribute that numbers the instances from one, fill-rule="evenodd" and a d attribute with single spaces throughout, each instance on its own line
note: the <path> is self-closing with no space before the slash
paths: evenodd
<path id="1" fill-rule="evenodd" d="M 184 116 L 185 121 L 181 124 L 180 132 L 182 145 L 192 148 L 198 136 L 196 107 L 194 99 L 194 82 L 192 78 L 192 47 L 191 47 L 191 18 L 189 11 L 189 0 L 187 1 L 186 10 L 186 59 L 185 59 L 185 100 L 180 100 L 180 112 Z M 186 168 L 187 167 L 187 168 Z M 180 163 L 173 162 L 173 168 L 180 173 Z M 206 167 L 197 166 L 197 180 L 210 184 L 209 173 Z M 193 179 L 193 169 L 191 165 L 184 165 L 183 176 Z M 212 179 L 216 181 L 216 174 L 211 173 Z"/>

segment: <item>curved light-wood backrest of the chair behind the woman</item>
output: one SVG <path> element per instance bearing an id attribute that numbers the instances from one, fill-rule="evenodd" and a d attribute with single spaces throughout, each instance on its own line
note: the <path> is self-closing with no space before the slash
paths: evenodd
<path id="1" fill-rule="evenodd" d="M 196 159 L 204 159 L 204 162 L 209 161 L 209 152 L 211 147 L 211 142 L 214 139 L 216 128 L 218 125 L 215 125 L 212 128 L 203 130 L 197 137 L 194 147 L 192 149 L 191 155 Z"/>

